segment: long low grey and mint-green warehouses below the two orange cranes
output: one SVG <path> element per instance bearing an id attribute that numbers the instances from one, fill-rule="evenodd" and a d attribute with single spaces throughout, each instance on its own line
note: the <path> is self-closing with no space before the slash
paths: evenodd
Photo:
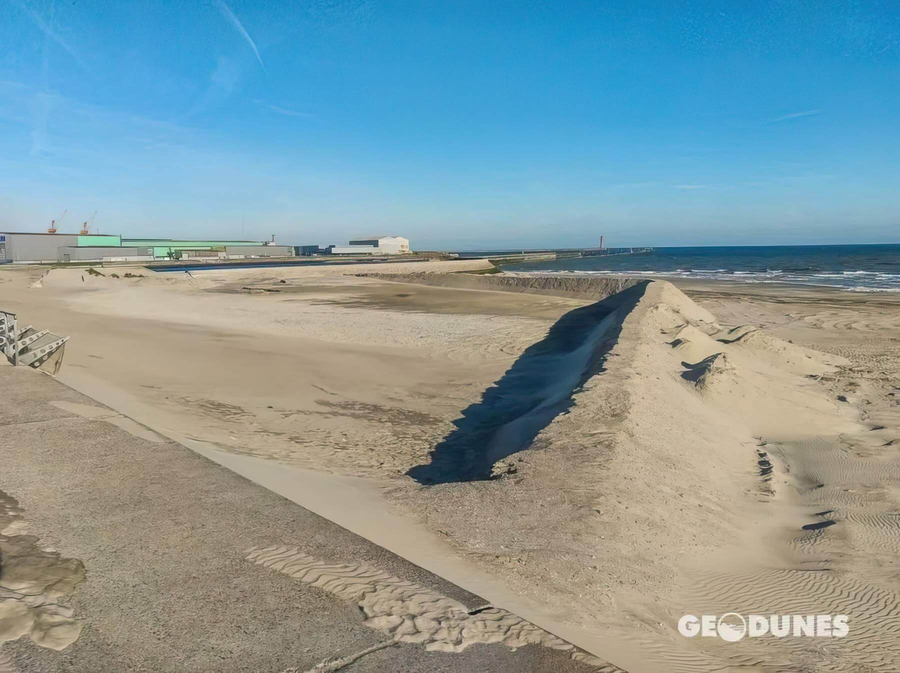
<path id="1" fill-rule="evenodd" d="M 293 256 L 272 241 L 122 238 L 117 234 L 0 231 L 0 264 L 152 262 L 164 259 L 241 259 Z"/>

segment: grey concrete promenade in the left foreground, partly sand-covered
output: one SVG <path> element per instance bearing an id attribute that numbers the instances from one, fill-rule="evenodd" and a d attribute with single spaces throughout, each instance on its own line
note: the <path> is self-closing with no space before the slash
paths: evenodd
<path id="1" fill-rule="evenodd" d="M 82 627 L 76 642 L 5 642 L 0 670 L 593 670 L 536 645 L 446 653 L 393 642 L 353 601 L 248 561 L 247 550 L 297 548 L 467 607 L 484 602 L 46 374 L 0 365 L 0 400 L 0 495 L 18 502 L 41 550 L 85 570 L 60 601 Z M 0 554 L 11 539 L 0 534 Z"/>

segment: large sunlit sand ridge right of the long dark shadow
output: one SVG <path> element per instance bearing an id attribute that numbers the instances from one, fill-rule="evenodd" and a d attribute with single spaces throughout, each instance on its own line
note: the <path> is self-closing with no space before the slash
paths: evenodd
<path id="1" fill-rule="evenodd" d="M 786 444 L 760 449 L 754 435 L 838 435 L 860 426 L 822 383 L 801 375 L 804 368 L 785 364 L 800 354 L 806 360 L 803 349 L 756 329 L 723 332 L 670 283 L 646 283 L 612 319 L 571 405 L 504 458 L 494 471 L 499 479 L 399 497 L 461 552 L 545 601 L 560 619 L 620 634 L 649 657 L 638 669 L 786 664 L 796 654 L 787 648 L 767 648 L 764 656 L 710 653 L 681 637 L 675 624 L 686 610 L 716 614 L 692 602 L 707 594 L 691 593 L 690 573 L 730 567 L 747 578 L 743 587 L 773 558 L 793 568 L 790 554 L 800 552 L 772 531 L 817 531 L 800 530 L 807 514 L 766 508 L 766 498 L 792 492 L 784 484 Z M 496 435 L 482 439 L 491 444 Z M 776 516 L 785 518 L 776 523 Z M 752 552 L 774 549 L 761 541 L 785 546 Z M 796 562 L 802 569 L 808 561 Z M 806 610 L 801 594 L 797 601 L 787 597 L 784 605 Z M 609 659 L 629 666 L 627 658 Z"/>

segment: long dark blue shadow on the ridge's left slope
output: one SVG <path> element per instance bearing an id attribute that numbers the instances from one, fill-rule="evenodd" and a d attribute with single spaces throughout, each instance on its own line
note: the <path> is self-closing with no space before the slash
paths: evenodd
<path id="1" fill-rule="evenodd" d="M 431 462 L 407 474 L 420 484 L 491 479 L 495 462 L 526 449 L 537 434 L 572 406 L 572 395 L 603 370 L 621 318 L 644 294 L 645 283 L 571 310 L 546 337 L 464 409 L 455 430 L 431 452 Z M 617 308 L 623 307 L 617 311 Z"/>

